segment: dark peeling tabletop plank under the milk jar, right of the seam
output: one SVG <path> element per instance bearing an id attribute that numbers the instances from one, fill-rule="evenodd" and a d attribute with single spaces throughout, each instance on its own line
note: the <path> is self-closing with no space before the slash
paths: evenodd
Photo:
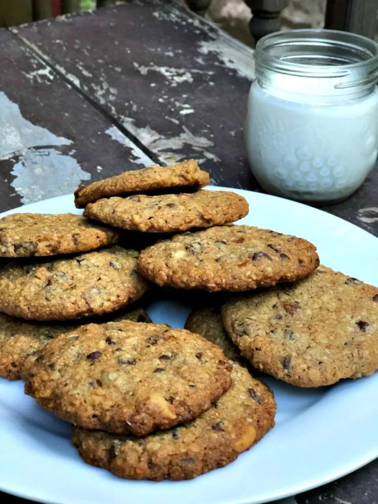
<path id="1" fill-rule="evenodd" d="M 214 183 L 260 190 L 243 142 L 253 51 L 175 3 L 132 2 L 14 29 L 162 163 L 195 157 Z M 324 207 L 378 235 L 378 171 Z"/>

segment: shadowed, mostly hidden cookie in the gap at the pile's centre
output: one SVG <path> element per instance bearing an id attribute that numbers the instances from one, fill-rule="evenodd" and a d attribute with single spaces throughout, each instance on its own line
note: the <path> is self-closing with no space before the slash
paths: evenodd
<path id="1" fill-rule="evenodd" d="M 222 321 L 220 306 L 208 305 L 204 308 L 192 311 L 185 322 L 185 329 L 192 333 L 201 334 L 204 338 L 218 345 L 227 359 L 246 365 L 240 350 L 228 337 Z"/>

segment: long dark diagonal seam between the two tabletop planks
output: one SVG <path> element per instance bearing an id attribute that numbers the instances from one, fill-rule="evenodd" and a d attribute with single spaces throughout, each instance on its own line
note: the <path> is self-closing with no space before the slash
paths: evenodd
<path id="1" fill-rule="evenodd" d="M 58 70 L 54 63 L 51 61 L 51 59 L 43 54 L 38 47 L 36 47 L 34 44 L 29 42 L 26 38 L 24 38 L 22 35 L 20 35 L 16 29 L 10 28 L 8 29 L 12 33 L 13 36 L 15 36 L 19 42 L 23 43 L 24 45 L 27 46 L 27 48 L 33 53 L 33 55 L 37 58 L 40 59 L 44 65 L 49 67 L 52 72 L 54 72 L 57 77 L 59 77 L 62 81 L 65 81 L 66 84 L 68 84 L 74 91 L 79 93 L 92 107 L 94 107 L 98 112 L 100 112 L 108 121 L 113 124 L 115 128 L 117 128 L 125 137 L 127 137 L 131 142 L 135 144 L 136 147 L 138 147 L 146 156 L 151 158 L 154 163 L 157 164 L 163 164 L 162 161 L 159 159 L 159 156 L 156 155 L 154 152 L 150 151 L 142 142 L 136 138 L 127 128 L 124 127 L 124 125 L 115 117 L 113 117 L 107 110 L 105 110 L 102 105 L 93 99 L 91 96 L 87 95 L 82 89 L 80 89 L 79 86 L 75 84 L 68 76 L 66 76 L 63 72 Z"/>

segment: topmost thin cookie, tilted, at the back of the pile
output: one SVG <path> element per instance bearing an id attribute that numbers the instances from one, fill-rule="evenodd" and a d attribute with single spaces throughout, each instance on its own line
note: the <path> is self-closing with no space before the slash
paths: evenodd
<path id="1" fill-rule="evenodd" d="M 124 171 L 98 182 L 78 187 L 75 205 L 84 208 L 88 203 L 125 193 L 155 191 L 168 187 L 203 187 L 210 183 L 210 176 L 198 166 L 195 159 L 188 159 L 171 166 L 154 164 L 142 170 Z"/>

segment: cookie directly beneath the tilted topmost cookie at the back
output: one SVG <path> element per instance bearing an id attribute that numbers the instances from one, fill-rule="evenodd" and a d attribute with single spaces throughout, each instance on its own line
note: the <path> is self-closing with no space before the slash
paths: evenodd
<path id="1" fill-rule="evenodd" d="M 248 213 L 248 203 L 235 193 L 196 191 L 160 196 L 98 200 L 85 207 L 84 215 L 122 229 L 165 233 L 192 227 L 233 222 Z"/>

